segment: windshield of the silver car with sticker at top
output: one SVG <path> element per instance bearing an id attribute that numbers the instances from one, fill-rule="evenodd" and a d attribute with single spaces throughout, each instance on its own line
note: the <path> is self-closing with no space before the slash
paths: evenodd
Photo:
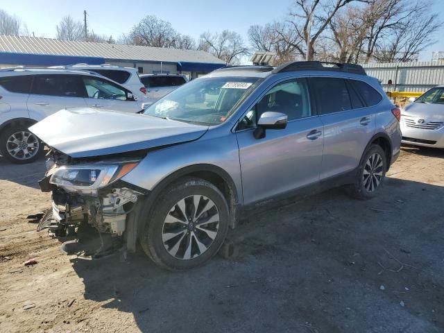
<path id="1" fill-rule="evenodd" d="M 210 126 L 223 123 L 253 90 L 258 78 L 198 78 L 153 103 L 144 114 Z"/>

